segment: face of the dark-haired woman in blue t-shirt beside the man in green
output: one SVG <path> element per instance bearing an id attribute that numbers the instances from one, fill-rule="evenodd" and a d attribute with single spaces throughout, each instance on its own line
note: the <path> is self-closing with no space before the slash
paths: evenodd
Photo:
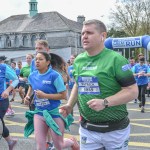
<path id="1" fill-rule="evenodd" d="M 38 53 L 36 55 L 35 64 L 36 64 L 36 68 L 40 72 L 45 72 L 48 69 L 50 61 L 47 61 L 43 54 Z"/>

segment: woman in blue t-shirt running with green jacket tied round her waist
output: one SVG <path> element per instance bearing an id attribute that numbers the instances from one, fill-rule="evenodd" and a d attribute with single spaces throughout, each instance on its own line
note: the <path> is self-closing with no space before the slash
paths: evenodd
<path id="1" fill-rule="evenodd" d="M 34 134 L 37 149 L 46 149 L 46 136 L 50 127 L 51 137 L 57 150 L 68 147 L 72 147 L 73 150 L 79 150 L 76 149 L 78 143 L 74 138 L 63 138 L 66 122 L 64 122 L 58 110 L 61 103 L 60 100 L 66 98 L 66 87 L 62 76 L 49 67 L 50 56 L 46 52 L 37 53 L 35 65 L 37 70 L 29 75 L 28 81 L 30 87 L 25 101 L 27 102 L 29 100 L 31 92 L 34 91 L 35 111 L 28 111 L 27 113 L 30 113 L 29 117 L 34 113 Z M 55 111 L 55 113 L 52 114 L 52 111 Z M 47 117 L 45 117 L 46 114 Z M 28 121 L 29 120 L 31 120 L 31 118 L 28 119 Z M 56 123 L 54 128 L 53 125 L 51 127 L 53 121 Z M 31 129 L 27 128 L 28 125 L 30 126 L 31 123 L 29 124 L 28 122 L 25 127 L 25 136 L 28 136 L 26 133 Z"/>

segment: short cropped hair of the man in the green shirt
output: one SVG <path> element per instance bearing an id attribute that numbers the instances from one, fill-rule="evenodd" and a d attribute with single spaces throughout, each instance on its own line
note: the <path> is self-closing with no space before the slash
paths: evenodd
<path id="1" fill-rule="evenodd" d="M 97 29 L 100 32 L 107 32 L 105 24 L 100 20 L 92 19 L 83 22 L 83 25 L 89 25 L 89 24 L 95 24 Z"/>

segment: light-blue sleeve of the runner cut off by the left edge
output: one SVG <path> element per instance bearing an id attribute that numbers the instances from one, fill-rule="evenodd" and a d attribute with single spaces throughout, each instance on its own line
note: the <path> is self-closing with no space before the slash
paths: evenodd
<path id="1" fill-rule="evenodd" d="M 16 87 L 19 83 L 18 77 L 13 69 L 10 67 L 6 66 L 6 74 L 5 77 L 9 80 L 12 80 L 11 86 Z"/>

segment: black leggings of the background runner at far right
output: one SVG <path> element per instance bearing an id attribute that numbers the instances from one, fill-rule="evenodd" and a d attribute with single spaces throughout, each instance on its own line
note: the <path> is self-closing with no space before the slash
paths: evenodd
<path id="1" fill-rule="evenodd" d="M 138 89 L 139 89 L 138 99 L 141 102 L 142 106 L 145 106 L 145 101 L 146 101 L 146 98 L 145 98 L 146 87 L 147 87 L 147 84 L 138 85 Z"/>

